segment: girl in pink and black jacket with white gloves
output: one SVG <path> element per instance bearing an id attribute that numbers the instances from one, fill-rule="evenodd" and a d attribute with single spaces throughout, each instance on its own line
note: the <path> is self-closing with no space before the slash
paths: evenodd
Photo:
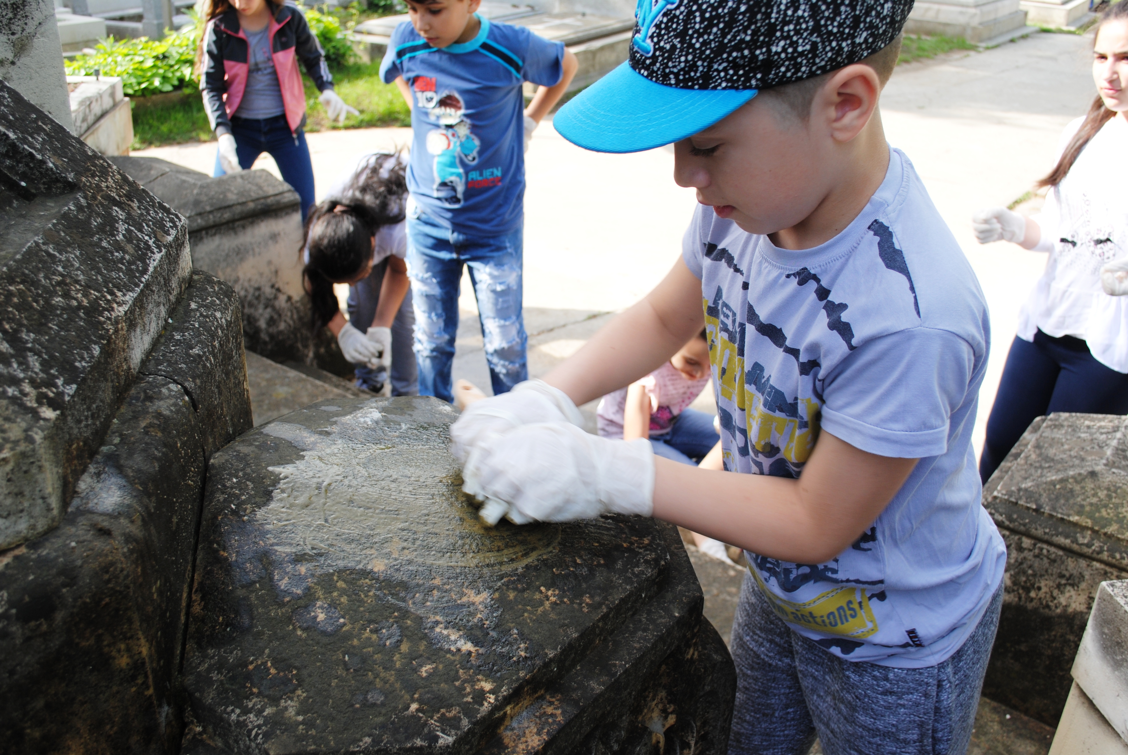
<path id="1" fill-rule="evenodd" d="M 282 178 L 301 197 L 301 218 L 314 204 L 314 166 L 306 146 L 306 93 L 298 70 L 320 90 L 329 118 L 344 121 L 349 107 L 333 90 L 325 55 L 306 17 L 273 0 L 205 0 L 208 28 L 197 68 L 204 109 L 219 137 L 213 176 L 249 168 L 270 152 Z"/>

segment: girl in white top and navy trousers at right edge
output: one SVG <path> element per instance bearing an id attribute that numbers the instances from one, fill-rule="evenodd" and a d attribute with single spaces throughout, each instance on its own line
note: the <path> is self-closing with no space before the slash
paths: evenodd
<path id="1" fill-rule="evenodd" d="M 985 210 L 980 244 L 1005 239 L 1049 252 L 1019 315 L 987 441 L 986 482 L 1034 418 L 1052 412 L 1128 414 L 1128 2 L 1101 16 L 1093 44 L 1098 96 L 1061 134 L 1040 216 Z"/>

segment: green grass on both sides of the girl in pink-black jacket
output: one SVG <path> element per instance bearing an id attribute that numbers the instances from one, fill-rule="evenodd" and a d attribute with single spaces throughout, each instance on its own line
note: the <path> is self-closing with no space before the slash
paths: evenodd
<path id="1" fill-rule="evenodd" d="M 360 115 L 350 115 L 344 125 L 329 123 L 325 108 L 317 102 L 317 87 L 309 79 L 303 79 L 306 131 L 411 125 L 407 103 L 395 85 L 380 82 L 379 69 L 379 63 L 356 63 L 342 65 L 333 71 L 337 94 L 360 111 Z M 133 99 L 131 149 L 210 141 L 213 138 L 199 93 L 174 93 Z"/>

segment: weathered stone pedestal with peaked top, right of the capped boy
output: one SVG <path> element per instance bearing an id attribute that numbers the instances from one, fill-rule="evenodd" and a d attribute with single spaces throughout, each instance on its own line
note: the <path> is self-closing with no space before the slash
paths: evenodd
<path id="1" fill-rule="evenodd" d="M 1128 579 L 1128 420 L 1036 420 L 984 490 L 1007 545 L 984 695 L 1056 726 L 1098 587 Z"/>

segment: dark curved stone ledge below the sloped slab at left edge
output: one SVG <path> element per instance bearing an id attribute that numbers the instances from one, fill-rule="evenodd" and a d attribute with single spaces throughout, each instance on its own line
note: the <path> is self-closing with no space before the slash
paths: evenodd
<path id="1" fill-rule="evenodd" d="M 249 428 L 239 301 L 196 272 L 62 523 L 0 552 L 0 749 L 178 750 L 206 463 Z"/>

